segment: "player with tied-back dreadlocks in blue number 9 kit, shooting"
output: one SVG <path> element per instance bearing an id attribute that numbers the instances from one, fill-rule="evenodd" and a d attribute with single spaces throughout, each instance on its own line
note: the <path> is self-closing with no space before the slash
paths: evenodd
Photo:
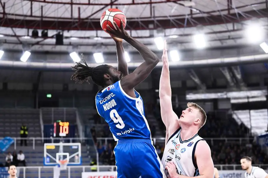
<path id="1" fill-rule="evenodd" d="M 76 63 L 71 79 L 82 83 L 89 77 L 102 89 L 96 94 L 96 108 L 110 126 L 117 142 L 114 148 L 118 178 L 166 177 L 163 165 L 152 144 L 149 125 L 144 114 L 144 104 L 134 87 L 145 80 L 158 64 L 159 58 L 145 45 L 130 37 L 124 28 L 114 23 L 116 30 L 105 29 L 116 42 L 118 70 L 109 65 L 89 67 Z M 123 22 L 121 21 L 121 27 Z M 138 50 L 144 62 L 128 74 L 122 41 Z"/>

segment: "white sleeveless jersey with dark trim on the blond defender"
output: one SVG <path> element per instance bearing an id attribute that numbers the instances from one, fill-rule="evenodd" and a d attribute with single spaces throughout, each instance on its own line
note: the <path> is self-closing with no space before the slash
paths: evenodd
<path id="1" fill-rule="evenodd" d="M 176 165 L 177 173 L 188 177 L 199 176 L 198 167 L 196 165 L 194 152 L 196 145 L 200 140 L 204 140 L 198 134 L 191 139 L 182 141 L 180 137 L 180 128 L 169 137 L 163 153 L 162 164 L 164 168 L 166 163 L 173 161 Z M 165 174 L 169 177 L 167 169 Z"/>

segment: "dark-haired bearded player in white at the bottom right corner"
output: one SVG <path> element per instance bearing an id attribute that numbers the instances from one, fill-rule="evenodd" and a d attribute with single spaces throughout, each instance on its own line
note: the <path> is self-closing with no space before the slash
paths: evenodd
<path id="1" fill-rule="evenodd" d="M 240 160 L 241 167 L 245 170 L 245 178 L 268 178 L 268 174 L 261 168 L 252 166 L 249 156 L 243 156 Z"/>

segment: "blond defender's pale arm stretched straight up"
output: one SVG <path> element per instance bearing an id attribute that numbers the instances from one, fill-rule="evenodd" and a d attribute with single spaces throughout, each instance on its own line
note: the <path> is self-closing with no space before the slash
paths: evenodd
<path id="1" fill-rule="evenodd" d="M 170 85 L 170 76 L 169 76 L 169 59 L 167 54 L 166 45 L 163 49 L 162 55 L 162 72 L 159 82 L 159 98 L 160 98 L 160 108 L 161 108 L 161 117 L 163 123 L 166 126 L 166 141 L 178 128 L 180 124 L 178 122 L 178 116 L 172 109 L 171 101 L 171 85 Z"/>

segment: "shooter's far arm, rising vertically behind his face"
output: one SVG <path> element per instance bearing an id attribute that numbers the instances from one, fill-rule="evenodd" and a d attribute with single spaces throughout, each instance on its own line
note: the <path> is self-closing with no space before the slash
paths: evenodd
<path id="1" fill-rule="evenodd" d="M 123 39 L 111 36 L 116 42 L 116 54 L 117 54 L 117 70 L 120 71 L 123 76 L 128 75 L 127 61 L 125 59 L 125 50 L 123 47 Z"/>

